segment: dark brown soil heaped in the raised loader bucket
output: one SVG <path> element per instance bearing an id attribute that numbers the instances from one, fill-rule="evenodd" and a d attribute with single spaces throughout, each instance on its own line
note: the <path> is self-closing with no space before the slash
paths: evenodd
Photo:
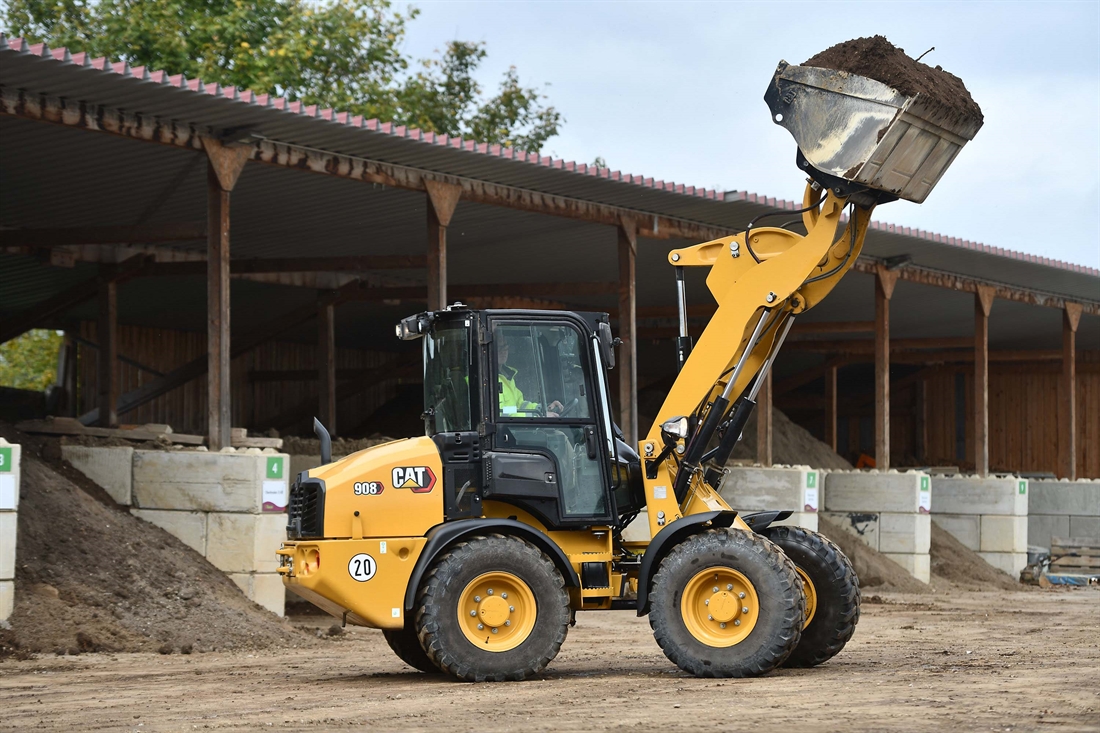
<path id="1" fill-rule="evenodd" d="M 913 58 L 881 35 L 853 39 L 826 48 L 806 59 L 803 66 L 835 68 L 866 76 L 893 87 L 905 96 L 922 97 L 959 113 L 982 120 L 981 108 L 963 79 L 939 66 L 928 66 Z"/>

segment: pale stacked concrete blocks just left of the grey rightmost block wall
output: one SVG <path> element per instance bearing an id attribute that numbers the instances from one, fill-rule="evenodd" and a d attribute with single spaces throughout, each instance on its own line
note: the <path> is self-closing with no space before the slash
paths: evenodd
<path id="1" fill-rule="evenodd" d="M 934 475 L 932 521 L 994 568 L 1027 565 L 1028 481 L 1014 475 Z"/>

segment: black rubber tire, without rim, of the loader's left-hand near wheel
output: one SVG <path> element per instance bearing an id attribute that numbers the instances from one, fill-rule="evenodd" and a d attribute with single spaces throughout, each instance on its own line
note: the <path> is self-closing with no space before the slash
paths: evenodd
<path id="1" fill-rule="evenodd" d="M 502 652 L 475 645 L 459 622 L 468 587 L 491 572 L 522 581 L 534 600 L 534 620 L 522 622 L 532 623 L 530 631 L 518 646 Z M 541 550 L 518 537 L 472 537 L 451 547 L 421 583 L 417 609 L 417 635 L 428 658 L 443 672 L 469 682 L 522 680 L 540 674 L 558 656 L 569 631 L 569 595 L 561 572 Z M 491 638 L 486 632 L 485 643 Z"/>

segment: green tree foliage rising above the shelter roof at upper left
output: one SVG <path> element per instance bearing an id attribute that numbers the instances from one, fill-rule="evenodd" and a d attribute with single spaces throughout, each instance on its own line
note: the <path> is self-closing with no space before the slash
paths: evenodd
<path id="1" fill-rule="evenodd" d="M 496 96 L 474 80 L 483 44 L 452 42 L 409 74 L 402 52 L 418 11 L 389 0 L 8 0 L 16 35 L 147 66 L 537 152 L 561 114 L 509 69 Z"/>

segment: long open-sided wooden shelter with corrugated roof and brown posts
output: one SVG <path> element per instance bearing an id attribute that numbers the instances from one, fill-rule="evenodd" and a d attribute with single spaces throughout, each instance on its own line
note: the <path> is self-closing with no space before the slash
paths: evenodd
<path id="1" fill-rule="evenodd" d="M 669 250 L 799 208 L 3 36 L 0 98 L 0 342 L 64 329 L 54 414 L 215 450 L 315 414 L 415 429 L 419 352 L 394 324 L 455 300 L 610 313 L 636 438 L 675 372 Z M 1100 477 L 1098 347 L 1097 270 L 877 220 L 761 392 L 758 458 L 774 403 L 879 468 Z"/>

